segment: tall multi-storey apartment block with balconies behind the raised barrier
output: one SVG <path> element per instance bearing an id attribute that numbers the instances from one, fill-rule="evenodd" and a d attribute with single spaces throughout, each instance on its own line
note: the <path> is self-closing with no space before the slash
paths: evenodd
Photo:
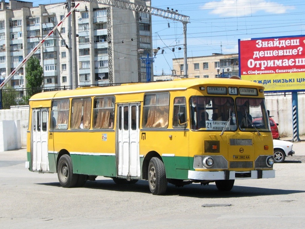
<path id="1" fill-rule="evenodd" d="M 150 0 L 125 0 L 150 5 Z M 67 18 L 33 56 L 44 69 L 44 86 L 72 86 L 72 44 L 76 36 L 78 85 L 146 81 L 139 60 L 152 50 L 151 16 L 92 2 L 80 3 L 75 12 L 76 34 Z M 8 76 L 68 13 L 66 2 L 38 5 L 1 1 L 0 75 Z M 25 65 L 13 76 L 13 88 L 25 87 Z"/>

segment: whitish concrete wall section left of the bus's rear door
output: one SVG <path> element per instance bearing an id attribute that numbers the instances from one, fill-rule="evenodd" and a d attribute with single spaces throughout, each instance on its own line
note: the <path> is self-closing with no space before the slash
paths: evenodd
<path id="1" fill-rule="evenodd" d="M 27 146 L 29 108 L 0 110 L 0 121 L 3 120 L 20 120 L 21 146 Z M 0 132 L 0 136 L 4 136 L 4 134 L 6 134 L 5 130 L 4 133 Z"/>

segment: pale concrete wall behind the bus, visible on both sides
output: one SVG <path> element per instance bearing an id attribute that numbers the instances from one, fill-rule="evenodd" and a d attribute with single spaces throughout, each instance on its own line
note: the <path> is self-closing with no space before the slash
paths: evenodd
<path id="1" fill-rule="evenodd" d="M 286 97 L 266 96 L 267 109 L 270 115 L 279 123 L 280 136 L 292 136 L 292 101 L 291 95 Z M 305 134 L 305 95 L 298 96 L 299 134 Z M 20 120 L 21 145 L 27 145 L 27 128 L 29 119 L 29 108 L 0 110 L 1 120 Z M 1 136 L 2 133 L 0 133 Z"/>

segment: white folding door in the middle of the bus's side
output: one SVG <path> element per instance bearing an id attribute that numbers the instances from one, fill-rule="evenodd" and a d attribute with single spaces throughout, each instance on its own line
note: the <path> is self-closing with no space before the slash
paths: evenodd
<path id="1" fill-rule="evenodd" d="M 139 153 L 140 103 L 119 104 L 117 109 L 118 176 L 141 177 Z"/>

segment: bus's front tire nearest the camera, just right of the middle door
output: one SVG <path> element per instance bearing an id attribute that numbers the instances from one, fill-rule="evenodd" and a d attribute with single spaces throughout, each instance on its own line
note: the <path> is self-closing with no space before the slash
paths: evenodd
<path id="1" fill-rule="evenodd" d="M 160 158 L 150 159 L 148 166 L 148 184 L 153 195 L 161 195 L 166 192 L 167 179 L 165 167 Z"/>

